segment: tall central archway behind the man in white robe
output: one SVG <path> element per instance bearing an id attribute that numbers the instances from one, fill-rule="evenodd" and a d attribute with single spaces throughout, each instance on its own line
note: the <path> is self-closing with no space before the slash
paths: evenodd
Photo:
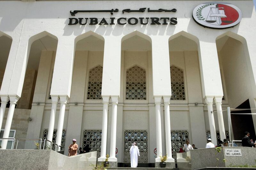
<path id="1" fill-rule="evenodd" d="M 140 150 L 138 163 L 149 163 L 149 111 L 148 104 L 153 99 L 152 45 L 147 35 L 138 31 L 125 35 L 122 39 L 121 55 L 121 97 L 123 107 L 122 162 L 130 163 L 130 148 L 133 142 Z M 139 105 L 138 105 L 139 104 Z"/>

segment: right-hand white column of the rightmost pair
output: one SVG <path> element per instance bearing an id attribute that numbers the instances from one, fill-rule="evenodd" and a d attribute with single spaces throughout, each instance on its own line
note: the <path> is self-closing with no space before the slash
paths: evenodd
<path id="1" fill-rule="evenodd" d="M 226 139 L 225 135 L 225 127 L 224 127 L 224 121 L 223 121 L 223 115 L 222 115 L 222 97 L 215 97 L 214 102 L 217 108 L 217 115 L 218 115 L 218 123 L 219 123 L 219 129 L 220 129 L 220 140 Z"/>

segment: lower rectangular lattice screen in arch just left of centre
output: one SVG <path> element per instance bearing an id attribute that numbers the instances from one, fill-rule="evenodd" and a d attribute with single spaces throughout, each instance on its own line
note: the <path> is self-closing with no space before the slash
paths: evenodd
<path id="1" fill-rule="evenodd" d="M 102 130 L 84 130 L 83 133 L 82 150 L 89 144 L 90 152 L 97 151 L 97 160 L 100 157 L 101 132 Z"/>

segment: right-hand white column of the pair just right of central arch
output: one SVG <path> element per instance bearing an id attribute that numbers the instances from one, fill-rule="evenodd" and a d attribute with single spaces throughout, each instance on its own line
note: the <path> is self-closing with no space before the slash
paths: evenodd
<path id="1" fill-rule="evenodd" d="M 165 123 L 165 140 L 166 140 L 166 162 L 175 162 L 172 158 L 172 141 L 171 141 L 171 122 L 170 122 L 170 99 L 171 97 L 163 97 L 164 99 L 164 123 Z"/>

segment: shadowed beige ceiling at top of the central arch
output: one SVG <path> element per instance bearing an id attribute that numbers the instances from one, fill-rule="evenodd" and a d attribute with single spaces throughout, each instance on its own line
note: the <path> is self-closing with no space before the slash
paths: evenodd
<path id="1" fill-rule="evenodd" d="M 138 35 L 122 42 L 122 50 L 125 51 L 150 51 L 151 43 Z"/>

